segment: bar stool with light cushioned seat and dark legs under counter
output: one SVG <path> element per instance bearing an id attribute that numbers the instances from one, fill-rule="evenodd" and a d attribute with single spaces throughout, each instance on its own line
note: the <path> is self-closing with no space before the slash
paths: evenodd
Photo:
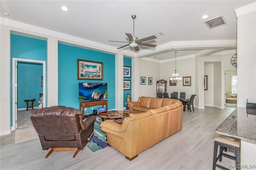
<path id="1" fill-rule="evenodd" d="M 220 153 L 217 156 L 217 150 L 218 150 L 218 145 L 220 146 Z M 231 156 L 229 154 L 223 153 L 223 151 L 227 151 L 227 148 L 234 149 L 236 152 L 236 156 Z M 220 162 L 222 161 L 222 156 L 225 156 L 227 158 L 230 158 L 232 160 L 236 160 L 236 168 L 240 169 L 240 139 L 238 138 L 233 138 L 230 136 L 225 136 L 223 134 L 219 134 L 215 139 L 214 139 L 214 157 L 213 157 L 213 165 L 212 169 L 215 170 L 216 166 L 218 168 L 228 170 L 228 168 L 225 168 L 223 166 L 220 166 L 217 163 L 219 160 Z"/>

